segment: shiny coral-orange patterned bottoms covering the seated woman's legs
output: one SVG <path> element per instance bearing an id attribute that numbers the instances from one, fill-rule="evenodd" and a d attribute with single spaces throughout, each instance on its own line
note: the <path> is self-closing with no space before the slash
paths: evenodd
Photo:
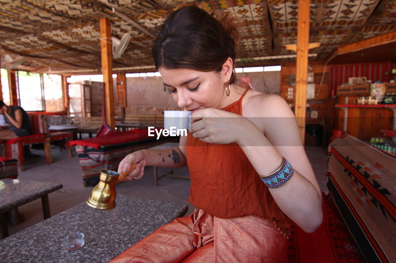
<path id="1" fill-rule="evenodd" d="M 287 262 L 287 240 L 271 220 L 222 219 L 196 208 L 148 235 L 111 263 Z"/>

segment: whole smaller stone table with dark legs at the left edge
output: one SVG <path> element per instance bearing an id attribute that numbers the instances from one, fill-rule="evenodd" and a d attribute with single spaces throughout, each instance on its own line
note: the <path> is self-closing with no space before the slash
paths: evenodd
<path id="1" fill-rule="evenodd" d="M 61 189 L 62 184 L 3 179 L 0 186 L 0 214 L 2 236 L 8 237 L 7 212 L 41 197 L 44 219 L 51 216 L 48 194 Z"/>

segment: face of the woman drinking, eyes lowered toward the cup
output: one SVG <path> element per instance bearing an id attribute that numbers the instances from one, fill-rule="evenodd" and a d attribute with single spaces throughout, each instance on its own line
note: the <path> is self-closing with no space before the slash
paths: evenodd
<path id="1" fill-rule="evenodd" d="M 221 73 L 182 68 L 166 70 L 162 67 L 158 71 L 179 107 L 196 111 L 204 108 L 221 109 L 226 106 L 223 106 L 225 81 Z"/>

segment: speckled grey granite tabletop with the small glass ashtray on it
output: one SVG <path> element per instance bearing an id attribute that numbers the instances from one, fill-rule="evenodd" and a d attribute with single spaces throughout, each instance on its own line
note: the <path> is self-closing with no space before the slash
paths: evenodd
<path id="1" fill-rule="evenodd" d="M 109 262 L 187 210 L 187 205 L 120 194 L 112 210 L 84 202 L 0 240 L 0 262 Z M 84 246 L 65 250 L 61 240 L 70 232 L 84 233 Z"/>

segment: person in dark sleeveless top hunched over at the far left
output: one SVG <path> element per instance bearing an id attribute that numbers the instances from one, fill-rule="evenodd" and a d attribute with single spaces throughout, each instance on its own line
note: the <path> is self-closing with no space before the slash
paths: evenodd
<path id="1" fill-rule="evenodd" d="M 5 126 L 0 127 L 0 143 L 32 133 L 29 116 L 21 107 L 7 106 L 0 100 L 0 114 L 4 116 L 5 121 Z"/>

